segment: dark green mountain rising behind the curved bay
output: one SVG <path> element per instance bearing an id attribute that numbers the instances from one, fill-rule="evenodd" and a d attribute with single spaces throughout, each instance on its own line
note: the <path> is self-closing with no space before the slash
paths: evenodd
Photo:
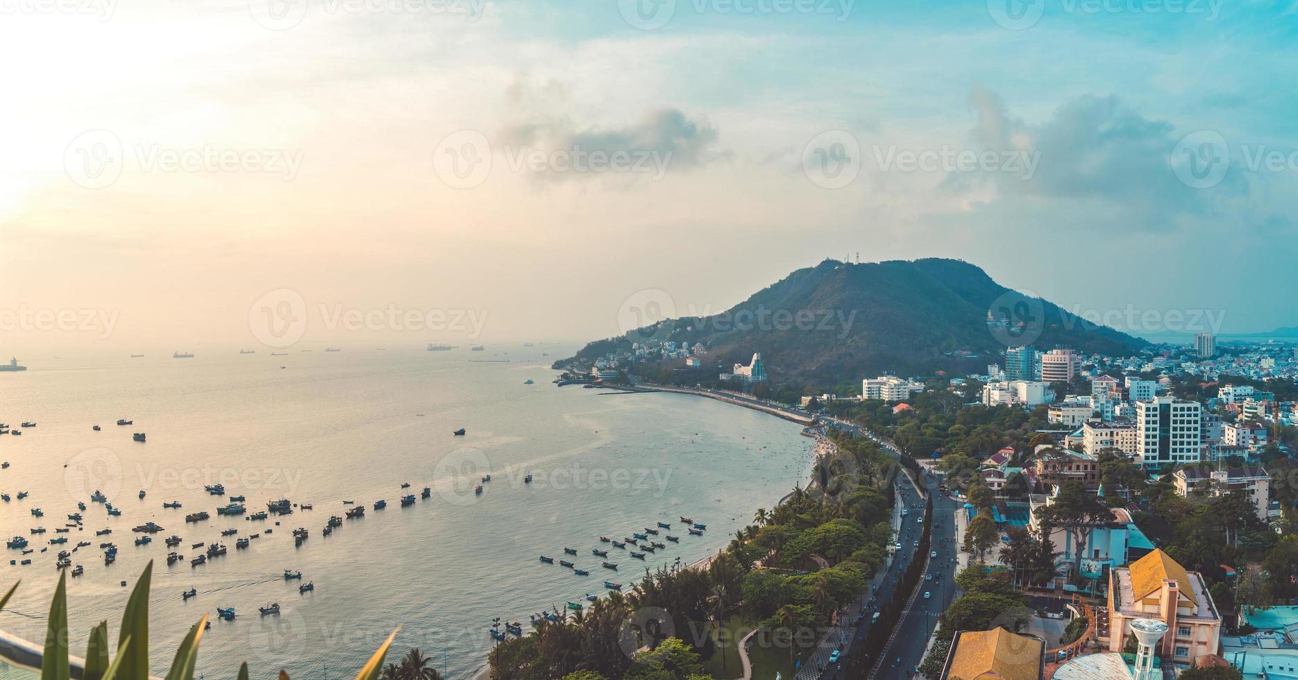
<path id="1" fill-rule="evenodd" d="M 845 263 L 800 269 L 711 317 L 665 319 L 626 336 L 588 344 L 578 363 L 671 340 L 707 348 L 704 367 L 748 363 L 754 352 L 772 380 L 855 382 L 884 372 L 984 372 L 1006 346 L 1072 348 L 1132 354 L 1149 343 L 1094 326 L 1045 300 L 1011 291 L 958 260 Z M 557 362 L 571 363 L 572 359 Z M 666 359 L 653 372 L 679 366 Z"/>

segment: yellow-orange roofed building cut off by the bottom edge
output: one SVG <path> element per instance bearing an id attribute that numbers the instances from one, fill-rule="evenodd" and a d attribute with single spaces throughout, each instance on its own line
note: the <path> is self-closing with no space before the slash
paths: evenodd
<path id="1" fill-rule="evenodd" d="M 1041 680 L 1045 641 L 1005 628 L 958 631 L 942 667 L 944 680 Z"/>

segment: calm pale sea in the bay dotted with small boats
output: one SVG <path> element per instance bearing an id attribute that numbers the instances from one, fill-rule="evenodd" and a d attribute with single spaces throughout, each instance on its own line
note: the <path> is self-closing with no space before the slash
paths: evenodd
<path id="1" fill-rule="evenodd" d="M 30 566 L 9 565 L 22 559 L 14 549 L 0 563 L 5 587 L 22 579 L 0 613 L 0 628 L 43 642 L 57 584 L 55 555 L 91 541 L 73 554 L 84 575 L 69 579 L 78 655 L 90 627 L 104 619 L 116 645 L 129 594 L 119 581 L 134 585 L 153 559 L 154 675 L 165 674 L 193 622 L 232 606 L 238 618 L 213 620 L 202 638 L 199 670 L 206 676 L 232 677 L 245 659 L 260 677 L 279 668 L 295 679 L 350 677 L 400 624 L 392 657 L 419 646 L 439 670 L 466 677 L 491 649 L 493 616 L 522 620 L 527 631 L 528 614 L 604 593 L 605 579 L 630 587 L 645 566 L 701 559 L 723 548 L 757 507 L 805 483 L 811 441 L 797 426 L 698 397 L 556 388 L 549 363 L 571 349 L 29 357 L 30 370 L 0 374 L 0 422 L 38 424 L 22 436 L 0 436 L 0 459 L 10 463 L 0 470 L 0 491 L 13 497 L 0 502 L 0 535 L 25 536 L 38 552 L 26 555 Z M 470 362 L 491 358 L 510 361 Z M 535 384 L 524 385 L 527 379 Z M 135 424 L 118 427 L 118 418 Z M 101 432 L 91 430 L 96 423 Z M 459 427 L 467 436 L 452 436 Z M 134 443 L 132 432 L 145 432 L 148 443 Z M 488 471 L 492 481 L 475 496 L 472 485 Z M 527 472 L 531 484 L 522 481 Z M 314 509 L 266 522 L 218 516 L 215 509 L 228 501 L 202 489 L 215 483 L 228 496 L 247 496 L 249 513 L 275 498 Z M 423 487 L 434 487 L 431 498 L 400 506 L 404 493 L 418 496 Z M 96 488 L 121 516 L 90 502 Z M 19 491 L 30 497 L 17 500 Z M 379 498 L 387 510 L 373 509 Z M 363 504 L 365 518 L 322 536 L 344 500 Z M 84 528 L 56 535 L 78 501 L 87 504 Z M 183 507 L 164 510 L 164 501 Z M 44 516 L 34 518 L 32 507 Z M 187 524 L 184 515 L 199 510 L 212 519 Z M 706 523 L 705 536 L 687 535 L 679 515 Z M 135 546 L 131 527 L 149 520 L 166 531 Z M 601 535 L 620 540 L 659 520 L 672 524 L 680 542 L 659 537 L 667 549 L 645 563 L 598 542 Z M 48 532 L 32 536 L 38 526 Z M 295 548 L 289 532 L 297 527 L 310 539 Z M 113 533 L 95 536 L 103 528 Z M 262 536 L 236 549 L 238 536 L 221 536 L 226 528 Z M 186 561 L 169 567 L 171 549 L 162 539 L 173 533 L 184 537 L 174 550 Z M 48 545 L 56 536 L 69 542 Z M 99 549 L 106 540 L 118 545 L 110 566 Z M 188 558 L 201 552 L 191 545 L 199 541 L 221 541 L 228 554 L 191 567 Z M 589 576 L 537 561 L 566 557 L 565 546 L 578 549 L 569 559 Z M 609 549 L 620 570 L 601 568 L 592 548 Z M 283 580 L 286 568 L 301 570 L 315 590 L 300 594 L 299 581 Z M 182 601 L 191 587 L 199 596 Z M 279 602 L 282 614 L 258 615 L 270 602 Z"/>

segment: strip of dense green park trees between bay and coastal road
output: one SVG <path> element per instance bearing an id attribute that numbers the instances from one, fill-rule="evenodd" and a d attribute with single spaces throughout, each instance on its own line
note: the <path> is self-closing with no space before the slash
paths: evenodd
<path id="1" fill-rule="evenodd" d="M 498 680 L 700 680 L 737 674 L 735 618 L 752 645 L 778 648 L 785 676 L 819 642 L 836 611 L 863 596 L 893 540 L 897 463 L 876 444 L 836 436 L 813 484 L 794 488 L 706 566 L 646 570 L 624 592 L 580 611 L 556 606 L 489 655 Z M 787 664 L 784 664 L 787 661 Z"/>

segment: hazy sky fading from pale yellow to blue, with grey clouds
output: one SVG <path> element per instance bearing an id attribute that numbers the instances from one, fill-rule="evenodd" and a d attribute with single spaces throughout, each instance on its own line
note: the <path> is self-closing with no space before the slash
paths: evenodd
<path id="1" fill-rule="evenodd" d="M 587 340 L 858 253 L 1294 326 L 1295 36 L 1293 0 L 0 0 L 0 354 Z"/>

